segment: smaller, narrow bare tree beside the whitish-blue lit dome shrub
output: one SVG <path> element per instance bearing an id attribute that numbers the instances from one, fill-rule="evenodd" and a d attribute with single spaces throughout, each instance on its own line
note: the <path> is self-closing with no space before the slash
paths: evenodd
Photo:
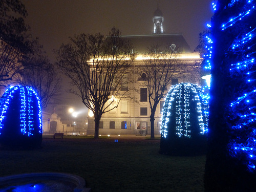
<path id="1" fill-rule="evenodd" d="M 138 74 L 143 74 L 142 79 L 148 91 L 148 102 L 151 109 L 151 138 L 154 139 L 157 105 L 165 96 L 167 88 L 172 85 L 172 79 L 178 78 L 179 62 L 176 50 L 170 47 L 161 50 L 159 46 L 151 46 L 144 57 L 144 65 L 138 68 Z"/>

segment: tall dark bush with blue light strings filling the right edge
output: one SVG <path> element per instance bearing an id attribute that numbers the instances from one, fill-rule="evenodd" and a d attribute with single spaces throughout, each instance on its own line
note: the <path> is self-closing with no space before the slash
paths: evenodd
<path id="1" fill-rule="evenodd" d="M 256 1 L 212 5 L 205 191 L 255 191 Z"/>

